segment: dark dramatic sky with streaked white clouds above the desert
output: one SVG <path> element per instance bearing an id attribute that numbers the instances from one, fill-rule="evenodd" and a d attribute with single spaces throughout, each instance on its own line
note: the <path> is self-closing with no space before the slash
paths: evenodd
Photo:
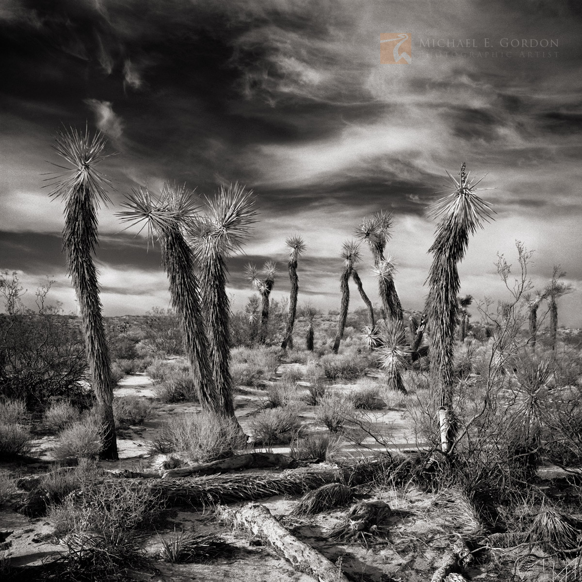
<path id="1" fill-rule="evenodd" d="M 581 30 L 576 0 L 2 0 L 0 269 L 31 290 L 54 276 L 54 298 L 74 310 L 62 206 L 41 174 L 58 161 L 59 125 L 88 120 L 119 152 L 104 164 L 116 191 L 100 214 L 107 314 L 168 304 L 156 250 L 119 233 L 114 215 L 132 187 L 165 180 L 208 195 L 239 180 L 257 194 L 255 236 L 230 263 L 237 307 L 250 294 L 244 262 L 284 269 L 296 232 L 307 243 L 300 300 L 337 307 L 340 244 L 385 209 L 396 286 L 405 307 L 421 308 L 434 233 L 425 208 L 445 170 L 466 161 L 487 173 L 482 185 L 495 189 L 482 196 L 497 214 L 470 242 L 462 291 L 503 299 L 496 253 L 516 262 L 519 239 L 535 250 L 536 285 L 555 263 L 567 271 L 578 291 L 560 323 L 580 327 Z M 380 34 L 400 32 L 412 35 L 412 62 L 382 65 Z M 454 40 L 457 54 L 421 47 L 432 39 Z M 282 270 L 275 297 L 287 290 Z"/>

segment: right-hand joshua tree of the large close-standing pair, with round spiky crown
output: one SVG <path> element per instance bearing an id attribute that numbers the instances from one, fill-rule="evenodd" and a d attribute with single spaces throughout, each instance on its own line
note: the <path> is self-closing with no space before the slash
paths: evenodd
<path id="1" fill-rule="evenodd" d="M 249 236 L 257 214 L 253 210 L 252 191 L 238 183 L 221 186 L 218 196 L 208 201 L 208 215 L 194 232 L 202 299 L 206 316 L 208 355 L 212 381 L 223 414 L 235 417 L 230 376 L 230 300 L 226 293 L 225 260 L 240 249 Z"/>

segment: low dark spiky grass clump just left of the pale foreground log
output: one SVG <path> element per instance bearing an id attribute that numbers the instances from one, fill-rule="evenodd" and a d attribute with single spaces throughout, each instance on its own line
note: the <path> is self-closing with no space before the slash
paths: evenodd
<path id="1" fill-rule="evenodd" d="M 162 544 L 161 557 L 166 562 L 203 562 L 222 555 L 228 547 L 220 535 L 187 533 L 182 530 L 170 534 L 167 538 L 158 534 Z"/>

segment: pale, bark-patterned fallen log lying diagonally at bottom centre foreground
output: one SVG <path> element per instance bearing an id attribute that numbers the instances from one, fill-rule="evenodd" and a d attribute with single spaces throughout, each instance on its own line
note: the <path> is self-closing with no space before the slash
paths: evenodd
<path id="1" fill-rule="evenodd" d="M 240 509 L 221 508 L 219 517 L 235 527 L 260 535 L 283 553 L 300 572 L 320 582 L 348 582 L 341 570 L 316 549 L 289 533 L 264 505 L 249 503 Z"/>

